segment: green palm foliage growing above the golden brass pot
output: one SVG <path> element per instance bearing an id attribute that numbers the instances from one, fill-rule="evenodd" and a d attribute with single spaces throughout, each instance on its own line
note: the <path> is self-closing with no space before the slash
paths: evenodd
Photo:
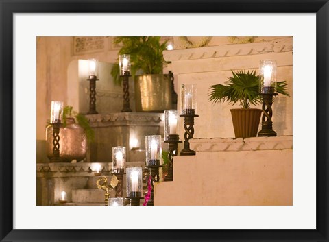
<path id="1" fill-rule="evenodd" d="M 160 42 L 160 36 L 117 36 L 114 44 L 121 45 L 119 55 L 130 55 L 131 75 L 162 74 L 165 64 L 162 51 L 167 48 L 167 41 Z M 121 84 L 119 63 L 112 66 L 111 75 L 114 84 Z"/>

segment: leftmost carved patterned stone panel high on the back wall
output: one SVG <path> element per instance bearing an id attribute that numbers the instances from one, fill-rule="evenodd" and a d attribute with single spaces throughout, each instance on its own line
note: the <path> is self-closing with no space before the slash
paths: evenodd
<path id="1" fill-rule="evenodd" d="M 73 55 L 101 52 L 105 50 L 105 37 L 73 37 Z"/>

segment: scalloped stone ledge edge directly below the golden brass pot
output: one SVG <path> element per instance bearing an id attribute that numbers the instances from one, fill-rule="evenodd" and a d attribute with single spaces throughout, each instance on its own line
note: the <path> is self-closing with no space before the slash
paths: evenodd
<path id="1" fill-rule="evenodd" d="M 112 114 L 93 114 L 86 115 L 86 118 L 90 122 L 92 127 L 95 127 L 97 123 L 108 123 L 112 125 L 117 125 L 118 121 L 121 122 L 136 122 L 136 123 L 144 123 L 145 125 L 149 125 L 150 123 L 158 124 L 164 121 L 164 114 L 162 113 L 136 113 L 136 112 L 119 112 Z"/>

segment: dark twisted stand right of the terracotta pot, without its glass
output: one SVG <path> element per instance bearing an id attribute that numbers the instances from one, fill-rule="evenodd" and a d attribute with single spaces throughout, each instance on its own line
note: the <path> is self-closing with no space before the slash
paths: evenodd
<path id="1" fill-rule="evenodd" d="M 273 130 L 273 96 L 278 95 L 278 93 L 260 93 L 262 95 L 263 105 L 263 116 L 262 116 L 262 129 L 258 132 L 257 136 L 276 136 L 276 132 Z"/>

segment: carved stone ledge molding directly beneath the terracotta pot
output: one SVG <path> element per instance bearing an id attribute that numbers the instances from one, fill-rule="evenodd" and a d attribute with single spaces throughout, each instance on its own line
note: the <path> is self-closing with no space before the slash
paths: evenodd
<path id="1" fill-rule="evenodd" d="M 196 152 L 239 152 L 293 149 L 293 136 L 253 138 L 193 138 L 191 149 Z"/>

